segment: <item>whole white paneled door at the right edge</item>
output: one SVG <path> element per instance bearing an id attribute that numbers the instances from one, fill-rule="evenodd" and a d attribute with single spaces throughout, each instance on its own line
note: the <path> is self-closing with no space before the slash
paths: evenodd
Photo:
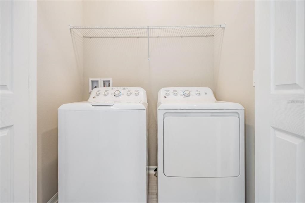
<path id="1" fill-rule="evenodd" d="M 304 1 L 255 7 L 255 201 L 305 201 Z"/>

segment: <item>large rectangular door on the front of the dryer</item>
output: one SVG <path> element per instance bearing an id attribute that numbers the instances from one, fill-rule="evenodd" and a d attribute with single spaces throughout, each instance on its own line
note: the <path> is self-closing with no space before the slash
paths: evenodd
<path id="1" fill-rule="evenodd" d="M 164 174 L 174 177 L 239 176 L 239 118 L 164 118 Z"/>

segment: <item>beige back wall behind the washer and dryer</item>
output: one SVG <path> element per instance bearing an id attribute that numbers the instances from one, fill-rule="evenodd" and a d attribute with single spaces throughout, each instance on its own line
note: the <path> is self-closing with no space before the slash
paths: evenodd
<path id="1" fill-rule="evenodd" d="M 167 26 L 213 24 L 213 1 L 84 1 L 84 25 Z M 156 166 L 156 104 L 162 87 L 214 89 L 212 38 L 84 39 L 84 100 L 88 78 L 113 86 L 143 87 L 149 103 L 149 165 Z"/>

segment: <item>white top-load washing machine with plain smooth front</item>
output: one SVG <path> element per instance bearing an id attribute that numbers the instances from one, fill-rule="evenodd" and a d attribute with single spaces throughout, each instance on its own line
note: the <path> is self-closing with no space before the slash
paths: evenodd
<path id="1" fill-rule="evenodd" d="M 140 87 L 99 87 L 60 106 L 59 202 L 146 202 L 147 123 Z"/>

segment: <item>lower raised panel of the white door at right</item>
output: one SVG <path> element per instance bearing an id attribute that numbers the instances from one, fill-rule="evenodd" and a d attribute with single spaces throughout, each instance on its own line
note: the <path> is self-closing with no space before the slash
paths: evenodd
<path id="1" fill-rule="evenodd" d="M 271 127 L 271 202 L 304 200 L 304 139 Z"/>

